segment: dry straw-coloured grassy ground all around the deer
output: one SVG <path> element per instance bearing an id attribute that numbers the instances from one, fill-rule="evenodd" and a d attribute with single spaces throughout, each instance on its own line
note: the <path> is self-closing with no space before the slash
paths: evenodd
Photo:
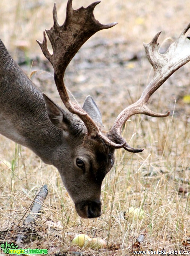
<path id="1" fill-rule="evenodd" d="M 103 0 L 94 15 L 101 23 L 118 21 L 98 32 L 69 64 L 65 83 L 82 105 L 91 95 L 108 130 L 117 115 L 135 102 L 152 78 L 143 42 L 160 30 L 164 52 L 190 22 L 188 1 Z M 91 1 L 75 1 L 74 8 Z M 53 2 L 14 1 L 0 3 L 0 38 L 34 83 L 60 105 L 51 64 L 35 39 L 52 26 Z M 66 1 L 57 1 L 62 24 Z M 43 184 L 48 196 L 43 213 L 25 241 L 25 248 L 48 249 L 48 255 L 133 255 L 132 246 L 143 234 L 142 250 L 189 250 L 189 143 L 190 65 L 174 73 L 151 97 L 150 109 L 171 114 L 166 118 L 136 115 L 126 123 L 123 137 L 139 154 L 118 150 L 116 162 L 102 185 L 103 214 L 93 220 L 78 217 L 57 170 L 45 165 L 29 149 L 0 137 L 1 204 L 0 243 L 16 242 L 23 219 Z M 142 218 L 128 214 L 130 207 L 143 210 Z M 101 237 L 107 249 L 72 248 L 79 233 Z M 32 237 L 32 238 L 31 238 Z"/>

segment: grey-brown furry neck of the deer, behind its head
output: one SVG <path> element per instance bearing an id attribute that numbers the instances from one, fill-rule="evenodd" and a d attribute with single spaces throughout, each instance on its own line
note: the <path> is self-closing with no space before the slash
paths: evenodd
<path id="1" fill-rule="evenodd" d="M 13 61 L 1 40 L 0 79 L 0 133 L 53 164 L 53 152 L 64 143 L 63 133 L 49 120 L 42 93 Z"/>

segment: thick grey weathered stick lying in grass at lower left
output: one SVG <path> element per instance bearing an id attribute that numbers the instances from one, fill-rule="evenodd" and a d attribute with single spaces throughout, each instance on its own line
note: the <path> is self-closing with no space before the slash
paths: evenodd
<path id="1" fill-rule="evenodd" d="M 42 204 L 43 201 L 46 199 L 48 194 L 48 187 L 47 185 L 44 185 L 38 195 L 36 196 L 34 200 L 34 204 L 31 209 L 31 214 L 29 214 L 25 221 L 24 224 L 30 224 L 30 223 L 35 223 L 36 222 L 36 217 L 39 216 L 39 212 L 42 209 Z"/>

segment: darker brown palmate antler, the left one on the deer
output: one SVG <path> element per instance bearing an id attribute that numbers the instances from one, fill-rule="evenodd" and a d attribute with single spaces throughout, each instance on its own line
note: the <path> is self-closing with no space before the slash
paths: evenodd
<path id="1" fill-rule="evenodd" d="M 64 73 L 67 65 L 74 57 L 79 48 L 88 40 L 94 33 L 99 30 L 107 29 L 115 26 L 117 22 L 103 25 L 94 18 L 93 10 L 100 3 L 94 2 L 87 8 L 81 7 L 74 10 L 72 0 L 67 2 L 66 19 L 63 25 L 59 25 L 57 21 L 56 4 L 53 7 L 53 27 L 46 30 L 47 36 L 53 48 L 51 55 L 47 48 L 47 38 L 44 32 L 43 42 L 38 42 L 43 54 L 51 62 L 54 68 L 54 79 L 60 94 L 61 100 L 65 107 L 73 114 L 76 114 L 84 122 L 87 127 L 88 136 L 96 138 L 101 142 L 115 148 L 123 147 L 126 142 L 120 145 L 109 140 L 92 118 L 78 105 L 70 101 L 67 89 L 64 84 Z"/>

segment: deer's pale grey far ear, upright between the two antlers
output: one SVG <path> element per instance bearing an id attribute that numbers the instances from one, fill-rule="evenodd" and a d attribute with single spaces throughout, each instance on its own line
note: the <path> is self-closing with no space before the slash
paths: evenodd
<path id="1" fill-rule="evenodd" d="M 103 125 L 102 115 L 91 96 L 87 96 L 85 98 L 82 108 L 89 114 L 89 116 L 93 119 L 94 122 Z"/>

